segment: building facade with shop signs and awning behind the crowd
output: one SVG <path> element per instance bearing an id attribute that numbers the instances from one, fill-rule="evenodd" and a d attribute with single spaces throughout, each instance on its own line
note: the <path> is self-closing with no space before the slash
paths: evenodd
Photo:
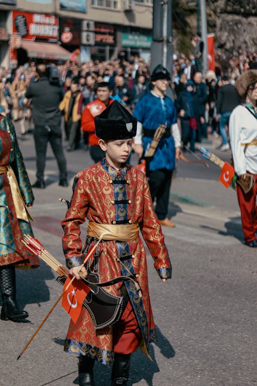
<path id="1" fill-rule="evenodd" d="M 0 0 L 0 64 L 69 60 L 148 60 L 152 0 Z"/>

